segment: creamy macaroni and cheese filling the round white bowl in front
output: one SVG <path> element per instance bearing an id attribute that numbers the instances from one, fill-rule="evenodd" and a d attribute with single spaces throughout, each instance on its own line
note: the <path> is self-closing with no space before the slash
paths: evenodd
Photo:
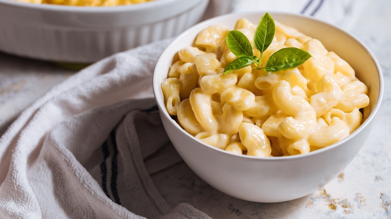
<path id="1" fill-rule="evenodd" d="M 241 18 L 235 29 L 253 44 L 254 23 Z M 284 156 L 333 144 L 361 124 L 368 89 L 319 40 L 276 22 L 262 63 L 284 47 L 312 57 L 288 70 L 250 65 L 224 74 L 237 58 L 225 41 L 229 30 L 223 25 L 202 30 L 193 45 L 178 51 L 161 84 L 168 113 L 195 138 L 233 153 Z"/>

